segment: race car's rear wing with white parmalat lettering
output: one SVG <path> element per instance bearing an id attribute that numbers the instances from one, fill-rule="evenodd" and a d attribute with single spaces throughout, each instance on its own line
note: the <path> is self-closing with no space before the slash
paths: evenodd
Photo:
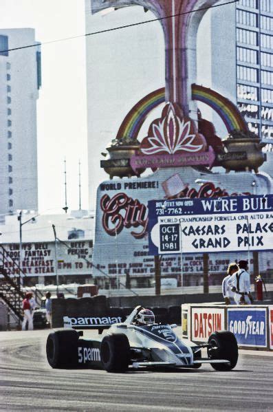
<path id="1" fill-rule="evenodd" d="M 121 323 L 120 316 L 63 316 L 63 327 L 72 329 L 109 329 L 115 323 Z"/>

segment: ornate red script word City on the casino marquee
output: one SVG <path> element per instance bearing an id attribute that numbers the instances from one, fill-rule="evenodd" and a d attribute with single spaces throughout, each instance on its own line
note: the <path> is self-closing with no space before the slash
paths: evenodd
<path id="1" fill-rule="evenodd" d="M 132 199 L 125 193 L 117 193 L 111 199 L 108 195 L 100 199 L 103 211 L 102 226 L 110 236 L 116 236 L 125 228 L 142 226 L 141 232 L 131 232 L 136 239 L 141 239 L 148 226 L 147 209 L 138 199 Z"/>

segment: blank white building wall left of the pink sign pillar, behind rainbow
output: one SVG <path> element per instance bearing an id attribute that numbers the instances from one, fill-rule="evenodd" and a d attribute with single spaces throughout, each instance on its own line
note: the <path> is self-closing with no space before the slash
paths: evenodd
<path id="1" fill-rule="evenodd" d="M 86 0 L 85 10 L 87 33 L 155 18 L 140 6 L 91 14 L 91 0 Z M 89 208 L 94 209 L 97 186 L 109 177 L 100 169 L 101 153 L 107 153 L 133 105 L 165 86 L 162 28 L 155 21 L 87 36 L 86 54 Z"/>

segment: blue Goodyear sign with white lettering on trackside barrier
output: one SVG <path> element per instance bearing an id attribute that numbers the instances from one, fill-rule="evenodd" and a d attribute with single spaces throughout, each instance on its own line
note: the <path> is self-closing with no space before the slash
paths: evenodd
<path id="1" fill-rule="evenodd" d="M 228 309 L 228 330 L 240 346 L 267 347 L 266 309 Z"/>

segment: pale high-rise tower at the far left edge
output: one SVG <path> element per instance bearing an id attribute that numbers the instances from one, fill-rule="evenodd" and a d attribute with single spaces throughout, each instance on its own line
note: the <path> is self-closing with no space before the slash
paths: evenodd
<path id="1" fill-rule="evenodd" d="M 34 29 L 0 30 L 0 217 L 38 209 L 36 100 L 41 52 Z"/>

